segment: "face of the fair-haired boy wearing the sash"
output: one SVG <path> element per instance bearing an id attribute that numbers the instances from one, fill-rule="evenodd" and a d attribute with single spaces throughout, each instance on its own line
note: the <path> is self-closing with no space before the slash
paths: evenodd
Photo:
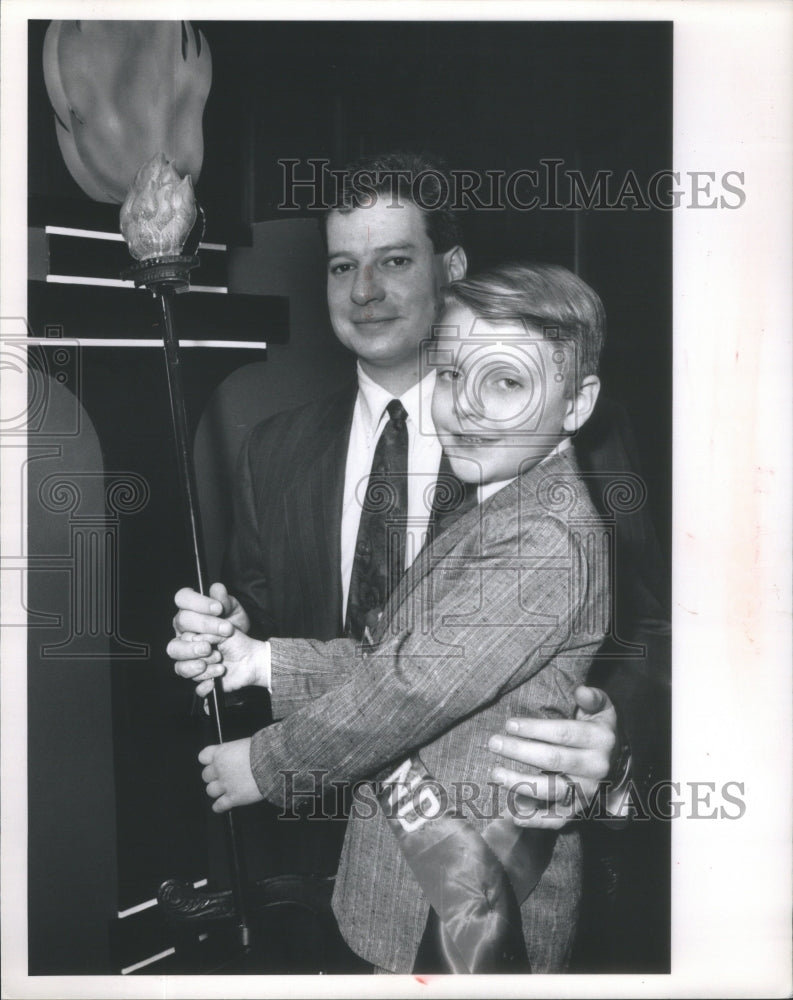
<path id="1" fill-rule="evenodd" d="M 444 311 L 437 333 L 432 417 L 464 482 L 513 479 L 575 429 L 571 341 L 546 340 L 520 320 L 492 323 L 461 305 Z"/>

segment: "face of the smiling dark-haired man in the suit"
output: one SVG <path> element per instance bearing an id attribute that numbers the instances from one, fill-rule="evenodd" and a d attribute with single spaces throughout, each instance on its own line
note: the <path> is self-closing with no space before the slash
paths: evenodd
<path id="1" fill-rule="evenodd" d="M 327 220 L 328 308 L 336 336 L 376 381 L 417 378 L 419 344 L 430 336 L 449 279 L 421 211 L 380 198 Z M 379 376 L 379 378 L 378 378 Z"/>

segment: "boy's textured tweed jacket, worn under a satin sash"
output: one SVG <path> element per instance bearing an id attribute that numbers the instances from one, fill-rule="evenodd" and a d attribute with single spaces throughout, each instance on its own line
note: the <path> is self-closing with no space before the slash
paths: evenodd
<path id="1" fill-rule="evenodd" d="M 412 751 L 477 827 L 505 809 L 490 734 L 508 716 L 568 718 L 607 631 L 604 530 L 571 450 L 536 466 L 425 548 L 363 655 L 352 640 L 272 640 L 273 711 L 253 737 L 264 796 L 383 777 Z M 285 779 L 282 772 L 288 772 Z M 330 785 L 327 785 L 330 788 Z M 283 822 L 288 822 L 284 820 Z M 557 839 L 522 907 L 535 972 L 564 968 L 580 895 L 580 841 Z M 412 970 L 428 904 L 396 840 L 357 793 L 333 900 L 352 949 Z"/>

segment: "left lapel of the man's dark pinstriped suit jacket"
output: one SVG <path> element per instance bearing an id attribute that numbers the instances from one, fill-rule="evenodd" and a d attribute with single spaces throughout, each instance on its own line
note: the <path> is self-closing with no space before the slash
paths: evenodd
<path id="1" fill-rule="evenodd" d="M 357 388 L 345 390 L 307 436 L 283 493 L 284 523 L 301 599 L 326 609 L 341 634 L 341 509 Z"/>

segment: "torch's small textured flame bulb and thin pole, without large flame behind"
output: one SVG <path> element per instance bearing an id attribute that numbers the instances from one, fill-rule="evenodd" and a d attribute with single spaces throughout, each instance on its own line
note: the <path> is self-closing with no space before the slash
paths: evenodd
<path id="1" fill-rule="evenodd" d="M 137 264 L 124 271 L 136 287 L 147 288 L 157 300 L 162 319 L 165 369 L 171 404 L 179 485 L 190 547 L 195 563 L 197 589 L 209 587 L 201 517 L 198 507 L 195 466 L 187 430 L 187 412 L 182 385 L 179 339 L 174 326 L 174 297 L 189 290 L 190 271 L 199 266 L 196 256 L 204 234 L 204 212 L 196 204 L 188 174 L 181 178 L 162 153 L 157 153 L 138 171 L 121 208 L 121 232 Z M 223 742 L 224 703 L 222 687 L 214 681 L 207 699 L 218 743 Z M 250 943 L 243 891 L 243 859 L 232 812 L 225 814 L 231 891 L 243 948 Z"/>

